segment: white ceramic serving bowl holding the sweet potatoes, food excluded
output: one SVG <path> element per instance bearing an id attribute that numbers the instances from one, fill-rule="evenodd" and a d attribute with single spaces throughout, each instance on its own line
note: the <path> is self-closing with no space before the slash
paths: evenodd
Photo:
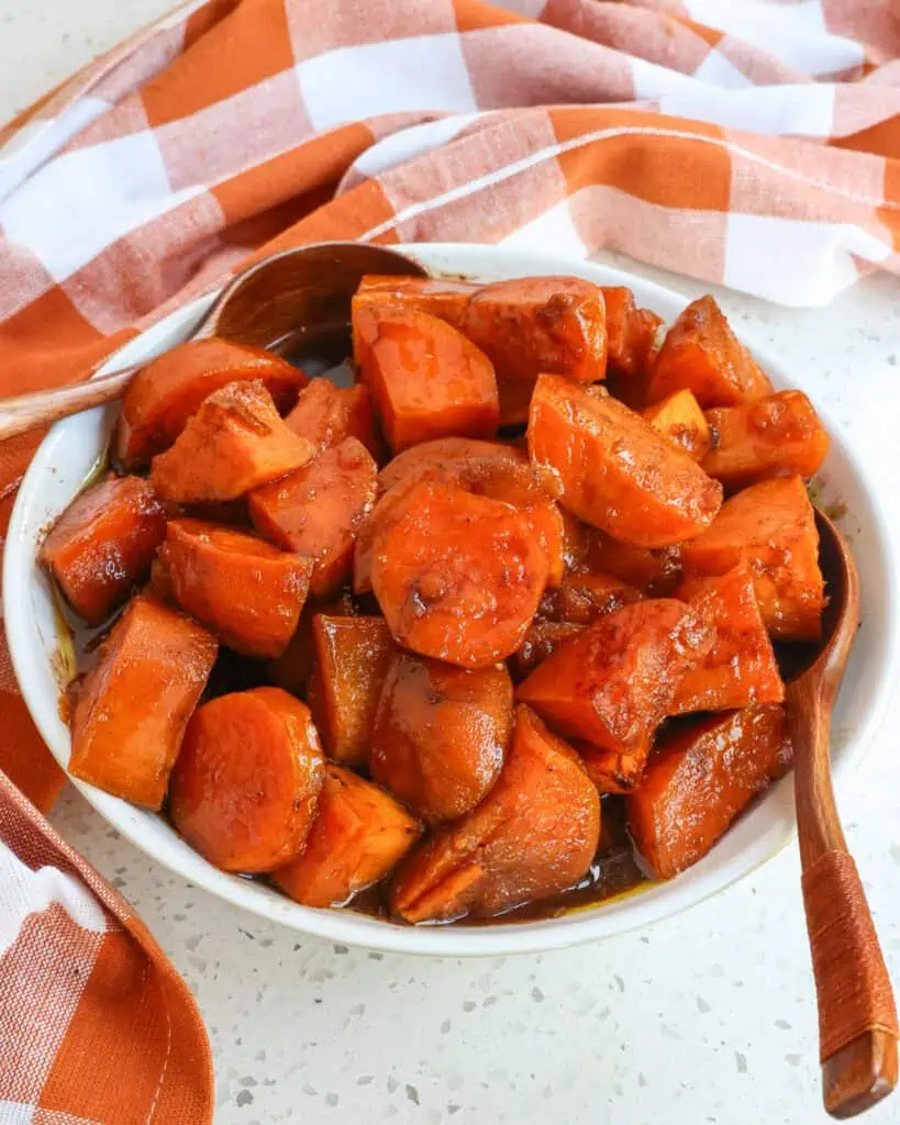
<path id="1" fill-rule="evenodd" d="M 578 274 L 602 285 L 624 285 L 637 300 L 667 321 L 685 298 L 621 270 L 551 254 L 462 244 L 399 248 L 435 272 L 498 280 L 534 273 Z M 172 313 L 123 348 L 109 370 L 150 360 L 188 338 L 213 297 Z M 749 341 L 747 341 L 749 343 Z M 777 357 L 753 348 L 776 387 L 802 384 L 802 372 L 788 371 Z M 50 584 L 36 564 L 42 537 L 69 504 L 106 448 L 117 408 L 97 408 L 57 423 L 38 449 L 19 489 L 9 525 L 3 567 L 3 603 L 12 663 L 25 701 L 56 760 L 69 762 L 70 738 L 58 713 L 57 637 Z M 862 586 L 862 628 L 834 717 L 832 764 L 839 785 L 871 742 L 900 664 L 898 579 L 888 556 L 884 519 L 875 489 L 824 418 L 831 450 L 820 474 L 824 503 L 840 502 Z M 537 952 L 594 940 L 644 927 L 684 910 L 749 874 L 788 844 L 794 832 L 791 778 L 774 785 L 712 852 L 677 879 L 638 894 L 572 911 L 543 921 L 483 925 L 471 928 L 413 927 L 356 915 L 298 906 L 260 882 L 227 875 L 184 844 L 168 821 L 154 813 L 72 778 L 106 820 L 147 855 L 236 906 L 263 918 L 333 940 L 405 953 L 464 956 Z"/>

